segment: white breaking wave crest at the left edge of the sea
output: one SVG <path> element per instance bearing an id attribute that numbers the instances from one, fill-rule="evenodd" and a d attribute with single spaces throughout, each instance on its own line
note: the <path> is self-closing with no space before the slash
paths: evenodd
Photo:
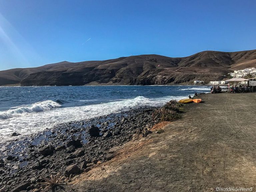
<path id="1" fill-rule="evenodd" d="M 0 112 L 0 119 L 9 119 L 12 117 L 19 117 L 26 113 L 34 113 L 41 111 L 49 111 L 52 108 L 61 107 L 61 105 L 52 100 L 42 101 L 38 103 L 34 103 L 32 105 L 19 107 L 17 109 L 10 109 L 8 111 Z"/>

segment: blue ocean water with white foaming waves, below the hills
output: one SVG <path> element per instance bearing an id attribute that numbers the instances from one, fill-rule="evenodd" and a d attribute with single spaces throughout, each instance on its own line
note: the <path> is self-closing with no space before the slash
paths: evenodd
<path id="1" fill-rule="evenodd" d="M 209 91 L 209 86 L 0 87 L 0 143 L 14 139 L 13 132 L 29 135 L 60 123 L 161 106 Z"/>

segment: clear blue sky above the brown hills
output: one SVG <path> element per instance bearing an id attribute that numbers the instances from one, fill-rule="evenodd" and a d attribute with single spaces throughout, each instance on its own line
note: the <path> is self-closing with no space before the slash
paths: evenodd
<path id="1" fill-rule="evenodd" d="M 0 0 L 0 70 L 207 49 L 256 49 L 256 1 Z"/>

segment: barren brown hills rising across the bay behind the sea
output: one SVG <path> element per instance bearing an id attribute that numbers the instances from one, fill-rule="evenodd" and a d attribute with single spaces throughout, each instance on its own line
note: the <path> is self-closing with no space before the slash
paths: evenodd
<path id="1" fill-rule="evenodd" d="M 152 85 L 219 80 L 236 69 L 256 65 L 256 50 L 203 51 L 188 57 L 138 55 L 105 61 L 60 62 L 0 71 L 0 85 Z"/>

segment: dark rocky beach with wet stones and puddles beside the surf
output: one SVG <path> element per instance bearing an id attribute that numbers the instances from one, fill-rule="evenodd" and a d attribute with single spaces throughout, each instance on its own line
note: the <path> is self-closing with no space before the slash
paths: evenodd
<path id="1" fill-rule="evenodd" d="M 41 176 L 61 173 L 73 178 L 114 157 L 124 143 L 146 137 L 159 121 L 156 107 L 131 109 L 86 121 L 60 124 L 53 129 L 1 146 L 0 191 L 37 191 Z M 69 180 L 69 179 L 67 179 Z"/>

